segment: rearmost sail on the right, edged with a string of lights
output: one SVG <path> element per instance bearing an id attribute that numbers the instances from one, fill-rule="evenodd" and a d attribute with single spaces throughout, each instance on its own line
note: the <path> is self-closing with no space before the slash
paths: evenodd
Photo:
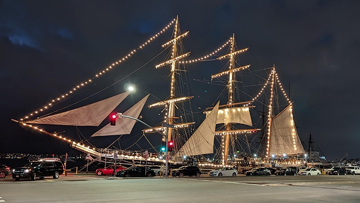
<path id="1" fill-rule="evenodd" d="M 270 157 L 305 153 L 296 131 L 291 105 L 271 120 L 268 152 Z"/>

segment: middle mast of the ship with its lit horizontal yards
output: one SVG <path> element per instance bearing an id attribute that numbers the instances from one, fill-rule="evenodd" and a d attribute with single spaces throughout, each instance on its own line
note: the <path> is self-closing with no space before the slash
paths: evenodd
<path id="1" fill-rule="evenodd" d="M 219 76 L 222 76 L 224 74 L 228 75 L 228 81 L 227 81 L 227 90 L 228 90 L 228 100 L 227 100 L 227 105 L 224 106 L 220 106 L 220 107 L 225 107 L 225 112 L 226 114 L 231 114 L 231 111 L 236 111 L 234 109 L 234 107 L 239 106 L 239 105 L 248 105 L 251 104 L 252 101 L 247 101 L 245 103 L 234 103 L 234 87 L 235 87 L 235 82 L 236 82 L 236 75 L 235 72 L 237 71 L 241 71 L 244 69 L 247 69 L 250 67 L 250 65 L 246 65 L 246 66 L 241 66 L 241 67 L 235 67 L 235 56 L 236 54 L 239 53 L 243 53 L 245 51 L 247 51 L 249 48 L 246 49 L 242 49 L 242 50 L 235 50 L 235 35 L 233 33 L 232 38 L 231 38 L 231 45 L 230 45 L 230 53 L 223 55 L 221 57 L 218 57 L 218 60 L 224 59 L 224 58 L 228 58 L 229 59 L 229 69 L 227 71 L 224 71 L 222 73 L 216 74 L 216 75 L 212 75 L 211 78 L 216 78 Z M 219 108 L 220 108 L 219 107 Z M 244 110 L 248 111 L 248 108 L 244 108 Z M 219 112 L 223 111 L 219 109 Z M 249 119 L 250 119 L 250 114 L 249 114 Z M 234 120 L 234 119 L 233 119 Z M 250 121 L 251 122 L 251 121 Z M 227 159 L 228 159 L 228 154 L 229 154 L 229 146 L 230 146 L 230 137 L 237 134 L 237 133 L 252 133 L 254 131 L 257 131 L 259 129 L 235 129 L 234 124 L 235 123 L 241 123 L 241 122 L 234 122 L 231 121 L 231 119 L 226 120 L 224 122 L 224 129 L 223 131 L 215 131 L 215 134 L 221 134 L 221 154 L 222 154 L 222 164 L 223 165 L 227 165 Z M 249 123 L 246 123 L 249 124 Z M 250 124 L 251 125 L 251 124 Z M 233 140 L 233 139 L 231 139 Z"/>

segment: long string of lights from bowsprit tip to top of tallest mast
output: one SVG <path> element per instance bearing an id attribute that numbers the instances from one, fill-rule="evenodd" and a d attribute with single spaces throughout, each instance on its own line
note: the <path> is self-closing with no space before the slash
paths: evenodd
<path id="1" fill-rule="evenodd" d="M 70 91 L 68 91 L 67 93 L 64 93 L 62 95 L 60 95 L 57 98 L 54 98 L 51 100 L 50 103 L 48 103 L 47 105 L 43 106 L 42 108 L 39 108 L 27 115 L 25 115 L 23 118 L 20 118 L 20 121 L 24 121 L 26 119 L 29 119 L 30 117 L 43 112 L 47 109 L 49 109 L 50 107 L 52 107 L 56 102 L 59 102 L 60 100 L 65 99 L 66 97 L 68 97 L 69 95 L 73 94 L 74 91 L 77 91 L 78 89 L 84 87 L 87 84 L 90 84 L 95 78 L 98 78 L 102 75 L 104 75 L 105 73 L 107 73 L 108 71 L 110 71 L 114 66 L 118 65 L 119 63 L 124 62 L 125 60 L 127 60 L 128 58 L 130 58 L 131 56 L 133 56 L 136 52 L 136 50 L 140 50 L 142 48 L 144 48 L 145 46 L 147 46 L 148 44 L 150 44 L 153 40 L 155 40 L 158 36 L 160 36 L 162 33 L 164 33 L 167 29 L 169 29 L 172 24 L 174 23 L 175 19 L 169 23 L 167 26 L 165 26 L 161 31 L 157 32 L 156 35 L 152 36 L 151 38 L 149 38 L 146 42 L 144 42 L 142 45 L 140 45 L 139 47 L 137 47 L 136 49 L 130 51 L 127 55 L 125 55 L 124 57 L 122 57 L 121 59 L 114 61 L 112 64 L 110 64 L 108 67 L 106 67 L 104 70 L 100 71 L 99 73 L 97 73 L 92 79 L 88 79 L 78 85 L 76 85 L 75 87 L 73 87 Z"/>

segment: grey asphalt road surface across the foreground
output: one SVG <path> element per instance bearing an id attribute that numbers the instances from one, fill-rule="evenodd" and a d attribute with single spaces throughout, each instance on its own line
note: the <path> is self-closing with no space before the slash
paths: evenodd
<path id="1" fill-rule="evenodd" d="M 116 178 L 94 174 L 0 180 L 0 202 L 356 202 L 360 176 Z"/>

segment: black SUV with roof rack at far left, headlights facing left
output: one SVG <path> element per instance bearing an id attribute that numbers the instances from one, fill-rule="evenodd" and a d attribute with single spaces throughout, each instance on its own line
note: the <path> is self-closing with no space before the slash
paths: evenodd
<path id="1" fill-rule="evenodd" d="M 31 178 L 34 181 L 36 177 L 44 179 L 45 176 L 58 179 L 62 173 L 64 173 L 64 166 L 61 161 L 32 161 L 23 167 L 15 168 L 13 179 L 18 181 L 20 178 Z"/>

